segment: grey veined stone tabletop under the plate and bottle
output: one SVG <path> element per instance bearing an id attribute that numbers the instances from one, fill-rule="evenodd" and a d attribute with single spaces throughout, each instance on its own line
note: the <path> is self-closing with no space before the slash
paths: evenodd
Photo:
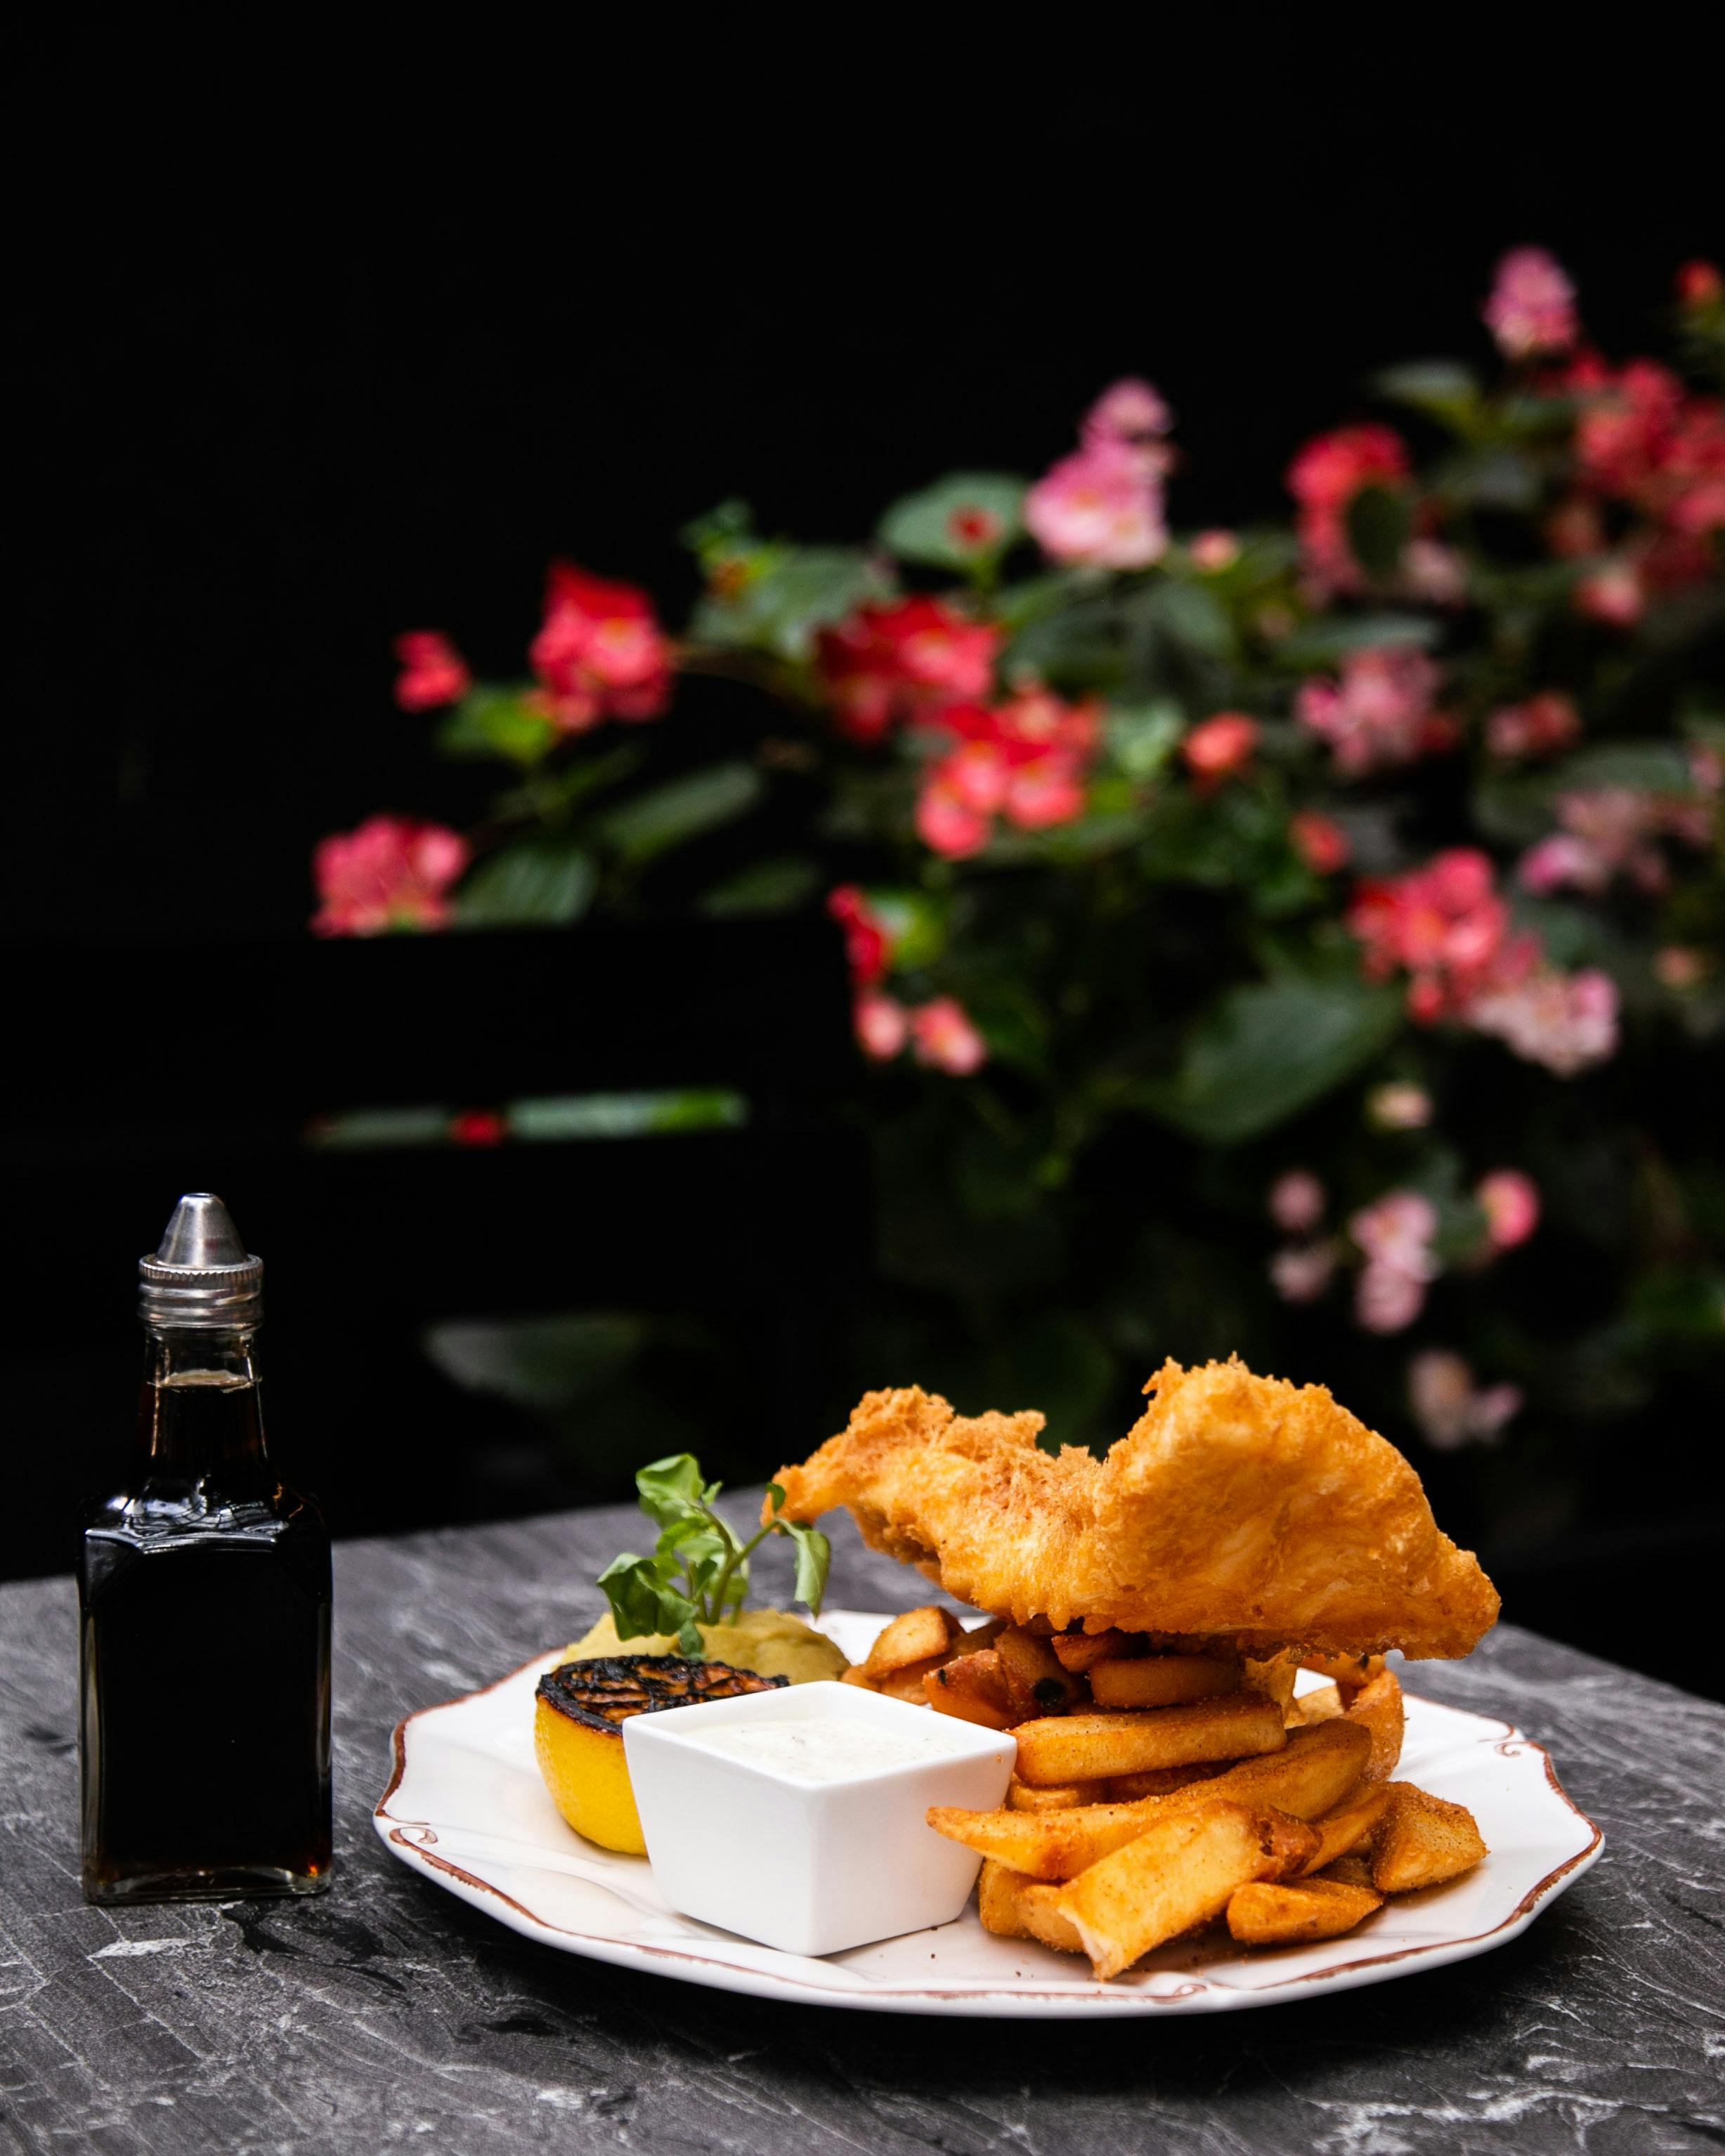
<path id="1" fill-rule="evenodd" d="M 746 1507 L 740 1507 L 740 1516 Z M 395 1863 L 390 1729 L 576 1636 L 634 1511 L 336 1548 L 336 1878 L 86 1908 L 75 1604 L 0 1589 L 0 2143 L 101 2156 L 826 2150 L 1473 2156 L 1725 2147 L 1725 1710 L 1499 1626 L 1419 1690 L 1546 1742 L 1606 1854 L 1509 1945 L 1177 2022 L 794 2007 L 554 1953 Z M 787 1593 L 772 1561 L 763 1598 Z M 837 1606 L 919 1574 L 834 1537 Z"/>

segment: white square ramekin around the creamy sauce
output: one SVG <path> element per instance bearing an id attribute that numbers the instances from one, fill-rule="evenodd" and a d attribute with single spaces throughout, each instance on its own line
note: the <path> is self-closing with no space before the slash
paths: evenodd
<path id="1" fill-rule="evenodd" d="M 949 1751 L 809 1783 L 690 1742 L 748 1720 L 850 1720 L 927 1729 Z M 929 1805 L 1000 1805 L 1018 1742 L 854 1684 L 791 1684 L 623 1723 L 640 1830 L 666 1902 L 785 1953 L 841 1953 L 951 1923 L 981 1858 L 936 1835 Z"/>

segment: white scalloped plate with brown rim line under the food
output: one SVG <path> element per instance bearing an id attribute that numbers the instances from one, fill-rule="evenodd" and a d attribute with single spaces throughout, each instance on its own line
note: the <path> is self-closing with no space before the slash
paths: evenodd
<path id="1" fill-rule="evenodd" d="M 884 1621 L 828 1611 L 822 1630 L 860 1658 Z M 1031 2020 L 1274 2005 L 1501 1947 L 1600 1854 L 1598 1826 L 1563 1794 L 1542 1744 L 1410 1697 L 1397 1774 L 1466 1805 L 1492 1854 L 1449 1887 L 1386 1902 L 1346 1938 L 1246 1951 L 1210 1930 L 1095 1984 L 1078 1955 L 992 1938 L 972 1906 L 932 1932 L 806 1960 L 677 1917 L 645 1856 L 612 1856 L 563 1824 L 533 1757 L 533 1688 L 556 1660 L 541 1654 L 397 1727 L 395 1774 L 375 1807 L 384 1846 L 526 1938 L 757 1999 Z"/>

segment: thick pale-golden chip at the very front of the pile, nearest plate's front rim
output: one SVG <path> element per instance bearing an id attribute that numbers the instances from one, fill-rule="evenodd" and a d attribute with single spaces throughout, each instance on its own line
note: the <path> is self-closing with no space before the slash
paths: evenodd
<path id="1" fill-rule="evenodd" d="M 1259 1813 L 1246 1805 L 1184 1811 L 1093 1863 L 1054 1897 L 1054 1910 L 1106 1981 L 1164 1938 L 1218 1917 L 1266 1869 L 1261 1843 Z"/>

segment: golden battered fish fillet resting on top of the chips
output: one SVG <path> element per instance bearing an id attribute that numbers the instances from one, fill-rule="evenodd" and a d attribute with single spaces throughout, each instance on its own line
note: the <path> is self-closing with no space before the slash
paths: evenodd
<path id="1" fill-rule="evenodd" d="M 1432 1658 L 1496 1623 L 1496 1589 L 1438 1533 L 1419 1475 L 1324 1386 L 1231 1358 L 1164 1363 L 1145 1393 L 1106 1460 L 1039 1451 L 1039 1414 L 869 1393 L 847 1429 L 778 1470 L 785 1516 L 845 1505 L 871 1548 L 947 1593 L 1057 1630 Z"/>

